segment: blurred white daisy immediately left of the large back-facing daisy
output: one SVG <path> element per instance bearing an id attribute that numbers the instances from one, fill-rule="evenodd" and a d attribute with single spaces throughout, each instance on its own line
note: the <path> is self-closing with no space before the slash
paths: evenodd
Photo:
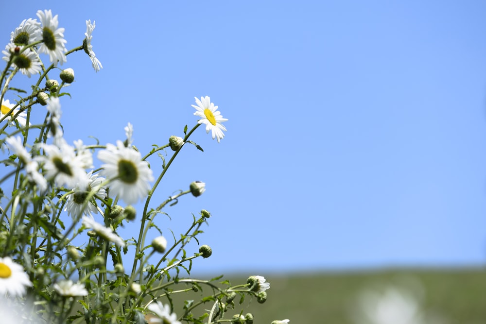
<path id="1" fill-rule="evenodd" d="M 66 143 L 64 138 L 57 137 L 56 145 L 40 143 L 39 147 L 46 155 L 38 156 L 36 159 L 44 163 L 42 168 L 46 171 L 47 179 L 54 179 L 54 183 L 59 187 L 86 187 L 83 161 L 76 156 L 74 148 Z"/>

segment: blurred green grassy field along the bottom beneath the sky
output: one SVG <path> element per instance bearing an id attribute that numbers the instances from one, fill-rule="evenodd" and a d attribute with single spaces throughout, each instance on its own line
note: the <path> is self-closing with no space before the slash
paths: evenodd
<path id="1" fill-rule="evenodd" d="M 270 324 L 275 319 L 290 319 L 290 324 L 355 324 L 350 314 L 361 292 L 400 282 L 415 282 L 415 286 L 422 287 L 421 309 L 434 319 L 428 324 L 486 323 L 486 271 L 483 269 L 258 274 L 265 276 L 271 288 L 264 304 L 253 300 L 247 309 L 253 313 L 255 324 Z M 244 283 L 247 278 L 246 275 L 227 277 L 232 284 Z"/>

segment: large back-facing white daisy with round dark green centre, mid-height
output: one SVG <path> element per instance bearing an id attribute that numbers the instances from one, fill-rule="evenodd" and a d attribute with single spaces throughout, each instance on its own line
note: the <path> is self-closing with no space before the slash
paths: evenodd
<path id="1" fill-rule="evenodd" d="M 154 180 L 147 161 L 141 160 L 138 151 L 125 147 L 119 140 L 117 146 L 107 144 L 106 150 L 98 153 L 98 159 L 104 164 L 101 173 L 110 179 L 109 188 L 129 205 L 146 197 L 150 181 Z"/>

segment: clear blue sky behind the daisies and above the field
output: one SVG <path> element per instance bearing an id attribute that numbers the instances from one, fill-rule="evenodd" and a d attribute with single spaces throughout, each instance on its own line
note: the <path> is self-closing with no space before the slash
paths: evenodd
<path id="1" fill-rule="evenodd" d="M 213 214 L 199 271 L 484 265 L 486 2 L 327 2 L 8 1 L 0 30 L 52 9 L 71 49 L 96 20 L 104 68 L 63 66 L 69 141 L 130 121 L 146 152 L 195 124 L 195 96 L 219 106 L 226 137 L 198 129 L 205 152 L 187 147 L 153 199 L 207 183 L 158 220 L 169 235 Z"/>

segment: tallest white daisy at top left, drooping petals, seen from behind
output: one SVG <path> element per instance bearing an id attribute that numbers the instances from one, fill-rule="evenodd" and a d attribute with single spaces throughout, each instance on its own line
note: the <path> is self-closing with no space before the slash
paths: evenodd
<path id="1" fill-rule="evenodd" d="M 59 22 L 57 15 L 52 17 L 51 10 L 37 11 L 37 17 L 42 24 L 42 40 L 39 47 L 40 53 L 49 54 L 51 62 L 54 66 L 57 62 L 61 65 L 66 62 L 66 40 L 64 39 L 64 28 L 57 28 Z"/>

